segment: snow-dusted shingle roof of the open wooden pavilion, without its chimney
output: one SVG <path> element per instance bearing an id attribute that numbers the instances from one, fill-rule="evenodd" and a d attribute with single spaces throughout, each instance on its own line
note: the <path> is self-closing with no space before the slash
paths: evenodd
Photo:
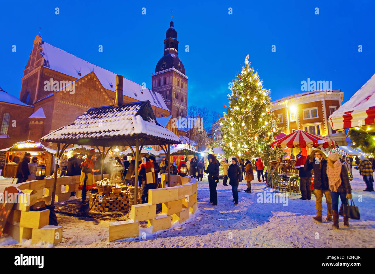
<path id="1" fill-rule="evenodd" d="M 148 120 L 148 121 L 147 121 Z M 40 138 L 42 141 L 106 139 L 144 134 L 180 143 L 172 131 L 160 126 L 148 101 L 123 104 L 121 107 L 93 107 L 72 124 Z M 114 140 L 109 140 L 114 141 Z"/>

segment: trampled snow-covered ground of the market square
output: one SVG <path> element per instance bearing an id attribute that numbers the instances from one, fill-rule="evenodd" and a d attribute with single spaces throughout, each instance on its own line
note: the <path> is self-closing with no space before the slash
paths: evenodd
<path id="1" fill-rule="evenodd" d="M 317 247 L 317 248 L 374 248 L 375 192 L 363 192 L 365 183 L 359 171 L 353 169 L 353 199 L 359 207 L 360 220 L 351 220 L 345 228 L 339 218 L 339 230 L 332 230 L 332 222 L 325 220 L 326 202 L 323 200 L 322 223 L 315 222 L 315 197 L 302 201 L 291 194 L 284 203 L 258 203 L 264 183 L 254 182 L 252 193 L 243 192 L 240 183 L 239 204 L 232 203 L 230 186 L 217 185 L 217 206 L 209 202 L 207 179 L 198 182 L 198 210 L 186 222 L 167 231 L 145 234 L 145 237 L 108 243 L 108 222 L 57 214 L 63 226 L 63 240 L 56 248 L 175 248 L 175 247 Z M 269 193 L 269 191 L 267 191 Z M 265 199 L 266 200 L 266 199 Z M 283 206 L 284 204 L 284 206 Z M 341 202 L 340 202 L 341 204 Z M 11 238 L 1 238 L 2 247 L 37 247 L 14 244 Z M 48 246 L 42 246 L 48 247 Z"/>

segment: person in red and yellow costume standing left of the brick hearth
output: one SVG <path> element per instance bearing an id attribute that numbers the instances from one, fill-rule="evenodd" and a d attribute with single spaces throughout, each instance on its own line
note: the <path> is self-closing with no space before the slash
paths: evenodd
<path id="1" fill-rule="evenodd" d="M 86 201 L 86 192 L 95 185 L 94 173 L 99 171 L 94 169 L 95 150 L 91 149 L 89 156 L 81 164 L 80 186 L 78 189 L 82 190 L 82 201 Z"/>

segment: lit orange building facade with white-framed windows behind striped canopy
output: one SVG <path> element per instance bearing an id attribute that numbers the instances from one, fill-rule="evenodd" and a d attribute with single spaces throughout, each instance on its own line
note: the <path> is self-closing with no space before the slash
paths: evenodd
<path id="1" fill-rule="evenodd" d="M 277 126 L 285 134 L 295 130 L 321 135 L 337 141 L 339 146 L 347 145 L 345 131 L 332 130 L 328 118 L 342 103 L 344 92 L 340 89 L 308 91 L 272 102 Z"/>

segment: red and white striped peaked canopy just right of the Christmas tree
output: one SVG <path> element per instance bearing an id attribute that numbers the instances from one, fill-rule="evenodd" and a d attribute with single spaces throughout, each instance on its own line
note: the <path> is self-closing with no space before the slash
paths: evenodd
<path id="1" fill-rule="evenodd" d="M 334 140 L 331 140 L 326 137 L 318 136 L 315 134 L 307 133 L 303 130 L 296 130 L 291 134 L 280 138 L 270 144 L 270 147 L 323 147 L 323 148 L 332 148 L 337 147 L 337 143 Z"/>

